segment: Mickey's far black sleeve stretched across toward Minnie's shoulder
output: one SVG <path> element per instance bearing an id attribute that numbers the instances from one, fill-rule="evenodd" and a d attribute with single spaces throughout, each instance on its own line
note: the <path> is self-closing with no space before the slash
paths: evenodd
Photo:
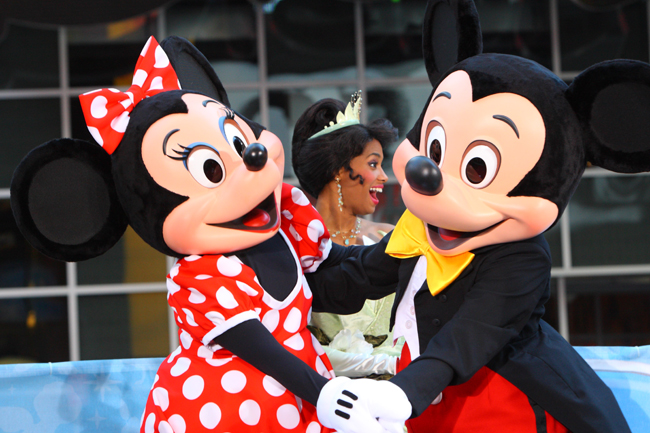
<path id="1" fill-rule="evenodd" d="M 352 314 L 366 299 L 381 299 L 395 292 L 400 260 L 385 253 L 390 233 L 368 246 L 332 244 L 318 270 L 305 274 L 317 312 Z"/>

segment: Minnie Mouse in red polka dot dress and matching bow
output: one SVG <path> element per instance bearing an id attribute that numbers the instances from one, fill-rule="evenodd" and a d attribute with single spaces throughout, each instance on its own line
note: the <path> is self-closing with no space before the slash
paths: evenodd
<path id="1" fill-rule="evenodd" d="M 141 432 L 330 431 L 317 403 L 333 428 L 384 432 L 373 411 L 390 411 L 385 397 L 399 388 L 329 380 L 306 328 L 318 293 L 303 272 L 327 257 L 327 230 L 282 183 L 278 138 L 229 108 L 205 57 L 184 39 L 150 38 L 128 91 L 80 100 L 100 146 L 34 149 L 11 204 L 25 237 L 60 260 L 104 253 L 127 224 L 178 258 L 167 288 L 181 344 L 158 370 Z"/>

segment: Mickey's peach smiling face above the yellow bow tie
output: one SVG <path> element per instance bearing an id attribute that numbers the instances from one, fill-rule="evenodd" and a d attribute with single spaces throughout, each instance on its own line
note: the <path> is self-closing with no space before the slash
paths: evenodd
<path id="1" fill-rule="evenodd" d="M 472 101 L 465 71 L 440 83 L 422 122 L 419 148 L 405 140 L 393 159 L 404 203 L 425 222 L 434 250 L 451 256 L 550 227 L 558 216 L 554 203 L 508 196 L 539 160 L 545 135 L 542 116 L 522 96 L 497 93 Z M 418 178 L 428 173 L 415 173 L 415 163 L 407 167 L 418 156 L 439 166 L 442 183 L 435 190 L 423 189 L 428 180 Z"/>

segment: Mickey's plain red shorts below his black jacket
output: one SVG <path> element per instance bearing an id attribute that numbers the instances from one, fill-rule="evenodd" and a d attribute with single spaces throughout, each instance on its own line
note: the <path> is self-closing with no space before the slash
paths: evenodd
<path id="1" fill-rule="evenodd" d="M 402 349 L 397 372 L 411 362 L 408 345 Z M 528 397 L 487 367 L 464 384 L 448 386 L 440 403 L 406 422 L 409 433 L 537 433 Z M 569 433 L 546 413 L 546 432 Z"/>

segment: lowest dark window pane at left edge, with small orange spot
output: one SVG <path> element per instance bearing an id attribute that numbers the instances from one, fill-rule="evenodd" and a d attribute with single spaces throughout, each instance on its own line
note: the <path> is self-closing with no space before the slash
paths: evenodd
<path id="1" fill-rule="evenodd" d="M 64 297 L 0 300 L 0 363 L 70 359 Z"/>

